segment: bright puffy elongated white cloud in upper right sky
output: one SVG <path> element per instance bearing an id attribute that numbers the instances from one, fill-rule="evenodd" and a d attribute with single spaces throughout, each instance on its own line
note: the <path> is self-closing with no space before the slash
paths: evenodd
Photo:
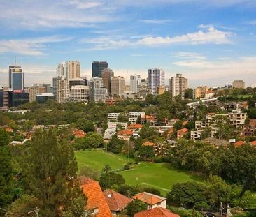
<path id="1" fill-rule="evenodd" d="M 173 43 L 190 43 L 190 44 L 206 44 L 206 43 L 215 43 L 215 44 L 225 44 L 231 43 L 230 37 L 234 33 L 227 31 L 220 31 L 214 27 L 208 27 L 206 31 L 199 30 L 195 33 L 187 33 L 183 36 L 176 37 L 147 37 L 141 40 L 138 40 L 139 45 L 170 45 Z"/>

